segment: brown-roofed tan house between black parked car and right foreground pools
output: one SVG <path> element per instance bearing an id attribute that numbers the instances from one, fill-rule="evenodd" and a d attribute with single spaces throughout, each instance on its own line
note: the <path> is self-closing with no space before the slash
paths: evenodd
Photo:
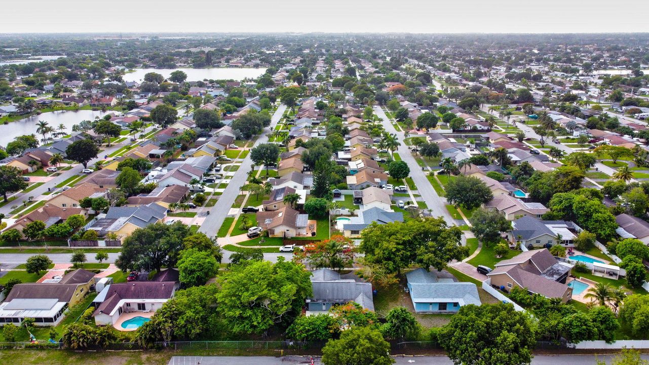
<path id="1" fill-rule="evenodd" d="M 504 290 L 517 286 L 526 288 L 530 294 L 559 298 L 566 303 L 572 298 L 572 288 L 565 284 L 572 267 L 558 261 L 548 249 L 534 249 L 498 262 L 487 274 L 487 280 Z"/>

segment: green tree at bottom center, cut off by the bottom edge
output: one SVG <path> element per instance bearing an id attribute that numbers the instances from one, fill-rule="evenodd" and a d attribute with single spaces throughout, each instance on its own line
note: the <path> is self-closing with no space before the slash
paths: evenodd
<path id="1" fill-rule="evenodd" d="M 343 331 L 339 340 L 329 340 L 323 347 L 324 365 L 389 365 L 390 344 L 371 327 L 352 327 Z"/>

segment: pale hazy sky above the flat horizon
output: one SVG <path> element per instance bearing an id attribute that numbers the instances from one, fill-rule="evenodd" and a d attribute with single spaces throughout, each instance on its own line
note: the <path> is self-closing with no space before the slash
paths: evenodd
<path id="1" fill-rule="evenodd" d="M 647 0 L 1 1 L 0 32 L 649 32 Z"/>

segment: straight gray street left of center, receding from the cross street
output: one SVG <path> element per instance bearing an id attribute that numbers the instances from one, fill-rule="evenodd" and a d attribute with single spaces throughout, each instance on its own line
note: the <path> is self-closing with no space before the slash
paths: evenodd
<path id="1" fill-rule="evenodd" d="M 260 145 L 268 142 L 268 137 L 266 136 L 266 134 L 273 131 L 275 125 L 277 125 L 277 122 L 282 118 L 284 110 L 286 110 L 286 105 L 284 104 L 280 105 L 280 107 L 275 110 L 273 118 L 271 119 L 271 125 L 263 129 L 262 135 L 257 139 L 254 145 Z M 234 199 L 236 199 L 236 197 L 239 195 L 239 187 L 245 184 L 245 181 L 248 178 L 247 174 L 248 171 L 250 171 L 251 166 L 252 160 L 250 158 L 250 154 L 248 154 L 243 159 L 243 162 L 241 162 L 239 170 L 234 173 L 232 180 L 230 180 L 230 183 L 225 188 L 225 191 L 223 191 L 223 194 L 221 194 L 221 197 L 219 197 L 219 201 L 217 201 L 216 205 L 214 205 L 214 208 L 210 210 L 210 215 L 205 218 L 205 221 L 202 223 L 199 232 L 207 234 L 210 237 L 216 235 L 221 225 L 223 225 L 223 221 L 228 216 L 228 212 L 230 211 L 230 207 L 232 207 L 232 203 L 234 203 Z"/>

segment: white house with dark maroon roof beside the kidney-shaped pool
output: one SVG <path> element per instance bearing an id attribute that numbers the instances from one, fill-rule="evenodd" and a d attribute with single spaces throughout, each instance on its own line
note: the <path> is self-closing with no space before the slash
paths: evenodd
<path id="1" fill-rule="evenodd" d="M 173 281 L 110 284 L 97 296 L 101 297 L 101 304 L 92 316 L 96 325 L 117 325 L 123 312 L 155 312 L 173 297 L 177 289 L 178 283 Z"/>

